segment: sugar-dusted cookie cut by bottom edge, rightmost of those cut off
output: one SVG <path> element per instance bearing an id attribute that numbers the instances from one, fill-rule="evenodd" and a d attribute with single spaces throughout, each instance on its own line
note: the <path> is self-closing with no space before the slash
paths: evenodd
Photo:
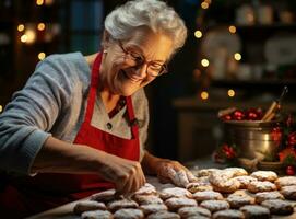
<path id="1" fill-rule="evenodd" d="M 239 208 L 239 210 L 244 214 L 245 218 L 250 219 L 269 219 L 270 210 L 265 207 L 259 205 L 246 205 Z"/>

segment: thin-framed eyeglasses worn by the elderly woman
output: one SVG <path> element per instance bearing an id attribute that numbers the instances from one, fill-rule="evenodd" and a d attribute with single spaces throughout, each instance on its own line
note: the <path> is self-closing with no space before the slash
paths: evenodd
<path id="1" fill-rule="evenodd" d="M 134 51 L 128 51 L 120 41 L 118 41 L 120 48 L 125 53 L 125 61 L 127 65 L 133 67 L 133 68 L 140 68 L 144 64 L 147 64 L 146 73 L 152 77 L 158 77 L 164 73 L 167 73 L 167 66 L 166 64 L 157 64 L 155 61 L 146 61 L 146 59 L 143 57 L 143 55 L 134 53 Z"/>

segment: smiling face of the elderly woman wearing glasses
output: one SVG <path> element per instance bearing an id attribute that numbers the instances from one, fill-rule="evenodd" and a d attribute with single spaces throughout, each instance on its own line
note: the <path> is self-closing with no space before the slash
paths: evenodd
<path id="1" fill-rule="evenodd" d="M 147 30 L 138 30 L 129 41 L 110 41 L 105 45 L 107 53 L 103 56 L 100 67 L 103 90 L 123 96 L 132 95 L 153 81 L 156 77 L 149 74 L 147 68 L 154 71 L 173 53 L 173 41 L 168 36 Z M 135 60 L 144 57 L 144 62 L 131 66 L 127 53 L 132 54 Z"/>

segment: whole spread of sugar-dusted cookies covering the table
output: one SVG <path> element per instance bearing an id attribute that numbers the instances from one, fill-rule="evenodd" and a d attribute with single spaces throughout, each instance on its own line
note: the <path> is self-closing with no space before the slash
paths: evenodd
<path id="1" fill-rule="evenodd" d="M 83 219 L 264 219 L 294 214 L 296 176 L 248 174 L 240 168 L 204 169 L 197 176 L 186 188 L 156 191 L 146 183 L 129 198 L 116 197 L 114 189 L 94 194 L 73 210 Z"/>

